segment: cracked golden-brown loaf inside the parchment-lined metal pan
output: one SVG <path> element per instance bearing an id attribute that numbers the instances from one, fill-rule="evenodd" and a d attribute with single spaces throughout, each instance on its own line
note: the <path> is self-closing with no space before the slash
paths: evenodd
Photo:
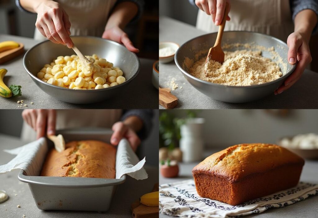
<path id="1" fill-rule="evenodd" d="M 65 151 L 49 151 L 40 176 L 115 178 L 114 146 L 101 141 L 72 141 Z"/>

